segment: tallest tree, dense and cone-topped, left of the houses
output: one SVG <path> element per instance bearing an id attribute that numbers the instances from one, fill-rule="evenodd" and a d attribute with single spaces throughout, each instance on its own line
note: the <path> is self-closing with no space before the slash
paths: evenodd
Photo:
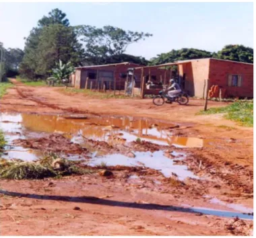
<path id="1" fill-rule="evenodd" d="M 56 61 L 79 66 L 84 58 L 84 49 L 77 40 L 75 29 L 69 26 L 66 14 L 53 9 L 49 16 L 38 21 L 26 38 L 24 58 L 20 73 L 29 79 L 45 79 Z"/>

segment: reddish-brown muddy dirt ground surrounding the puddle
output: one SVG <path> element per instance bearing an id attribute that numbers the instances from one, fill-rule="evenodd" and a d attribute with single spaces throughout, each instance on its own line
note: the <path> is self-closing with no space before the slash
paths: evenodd
<path id="1" fill-rule="evenodd" d="M 13 83 L 0 101 L 1 112 L 150 118 L 179 125 L 170 129 L 173 135 L 214 143 L 184 149 L 143 141 L 110 145 L 88 140 L 91 147 L 122 155 L 131 149 L 186 153 L 185 159 L 170 159 L 204 179 L 173 182 L 146 167 L 109 167 L 114 174 L 110 177 L 101 177 L 95 170 L 61 180 L 1 180 L 1 235 L 252 235 L 252 221 L 212 215 L 212 210 L 237 210 L 209 201 L 218 198 L 226 204 L 253 208 L 253 128 L 238 126 L 220 114 L 195 116 L 203 108 L 202 100 L 191 100 L 189 106 L 157 107 L 148 99 L 97 100 L 61 93 L 57 87 L 26 87 L 14 79 Z M 16 143 L 30 148 L 51 145 L 51 151 L 59 148 L 55 143 L 61 141 L 60 136 L 41 137 Z M 85 153 L 85 149 L 70 145 L 69 152 Z"/>

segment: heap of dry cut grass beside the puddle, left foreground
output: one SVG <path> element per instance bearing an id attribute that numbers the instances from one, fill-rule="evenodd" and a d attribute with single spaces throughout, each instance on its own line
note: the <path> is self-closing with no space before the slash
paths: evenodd
<path id="1" fill-rule="evenodd" d="M 0 161 L 0 177 L 11 180 L 41 180 L 44 177 L 62 177 L 65 175 L 83 175 L 91 173 L 77 165 L 75 161 L 59 158 L 53 153 L 38 159 L 38 161 L 26 162 L 21 160 Z"/>

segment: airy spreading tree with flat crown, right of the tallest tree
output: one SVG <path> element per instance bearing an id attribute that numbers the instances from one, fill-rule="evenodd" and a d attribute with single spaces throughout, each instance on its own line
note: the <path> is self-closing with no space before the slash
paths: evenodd
<path id="1" fill-rule="evenodd" d="M 85 42 L 87 63 L 98 65 L 114 61 L 115 57 L 124 54 L 129 44 L 152 36 L 149 33 L 125 31 L 113 26 L 77 26 L 75 29 Z"/>

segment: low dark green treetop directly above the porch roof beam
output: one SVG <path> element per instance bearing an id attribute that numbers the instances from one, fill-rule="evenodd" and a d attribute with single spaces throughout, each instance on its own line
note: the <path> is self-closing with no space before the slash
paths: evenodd
<path id="1" fill-rule="evenodd" d="M 211 58 L 212 52 L 195 48 L 182 48 L 181 50 L 171 50 L 167 53 L 158 54 L 152 58 L 150 65 L 161 65 L 174 61 L 185 61 L 194 58 Z"/>

